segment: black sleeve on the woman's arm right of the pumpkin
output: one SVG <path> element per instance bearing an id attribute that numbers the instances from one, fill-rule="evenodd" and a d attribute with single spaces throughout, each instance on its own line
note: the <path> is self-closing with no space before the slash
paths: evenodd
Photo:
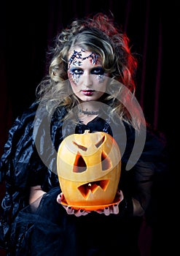
<path id="1" fill-rule="evenodd" d="M 130 138 L 130 135 L 128 140 L 130 145 L 133 145 L 133 138 Z M 130 148 L 128 148 L 129 151 Z M 155 206 L 154 188 L 157 188 L 158 183 L 160 187 L 163 184 L 163 177 L 167 172 L 166 157 L 165 136 L 156 134 L 148 128 L 144 150 L 136 164 L 130 170 L 125 170 L 126 162 L 123 162 L 122 158 L 120 189 L 122 189 L 125 196 L 124 203 L 122 206 L 120 204 L 120 210 L 122 212 L 129 216 L 138 215 L 138 213 L 133 212 L 132 199 L 134 198 L 140 203 L 144 215 L 154 218 L 153 214 L 155 215 L 155 211 L 151 208 L 152 205 Z M 124 159 L 128 159 L 127 155 Z M 162 180 L 158 177 L 161 177 Z M 126 208 L 126 211 L 123 211 L 123 208 Z"/>

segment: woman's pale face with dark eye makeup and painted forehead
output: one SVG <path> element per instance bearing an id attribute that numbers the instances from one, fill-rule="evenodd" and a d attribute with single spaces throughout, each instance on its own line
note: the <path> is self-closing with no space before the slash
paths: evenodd
<path id="1" fill-rule="evenodd" d="M 68 76 L 74 94 L 82 101 L 98 100 L 106 91 L 109 77 L 96 53 L 75 48 L 69 53 Z"/>

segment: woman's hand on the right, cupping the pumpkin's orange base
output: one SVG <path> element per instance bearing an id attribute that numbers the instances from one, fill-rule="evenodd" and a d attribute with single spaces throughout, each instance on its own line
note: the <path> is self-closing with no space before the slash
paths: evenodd
<path id="1" fill-rule="evenodd" d="M 115 197 L 117 199 L 117 203 L 112 206 L 107 206 L 103 209 L 97 210 L 96 212 L 98 214 L 105 214 L 106 216 L 109 216 L 109 214 L 119 214 L 119 204 L 124 199 L 124 195 L 121 190 L 117 191 L 117 195 Z M 119 199 L 119 200 L 118 200 Z"/>

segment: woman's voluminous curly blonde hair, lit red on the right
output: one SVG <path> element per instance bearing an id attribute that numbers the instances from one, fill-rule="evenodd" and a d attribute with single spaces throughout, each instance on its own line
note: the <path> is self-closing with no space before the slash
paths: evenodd
<path id="1" fill-rule="evenodd" d="M 53 111 L 53 106 L 63 105 L 69 111 L 79 104 L 71 90 L 67 74 L 69 50 L 75 46 L 101 56 L 102 67 L 112 78 L 107 94 L 103 97 L 103 102 L 111 102 L 109 114 L 113 116 L 117 112 L 122 120 L 138 128 L 141 124 L 138 111 L 132 118 L 125 105 L 117 100 L 120 94 L 125 102 L 130 100 L 130 95 L 122 90 L 122 85 L 135 94 L 137 59 L 131 53 L 129 38 L 125 32 L 114 23 L 114 18 L 101 12 L 93 15 L 93 18 L 88 16 L 74 20 L 58 34 L 55 46 L 49 52 L 49 75 L 37 87 L 37 99 L 45 100 L 50 112 Z"/>

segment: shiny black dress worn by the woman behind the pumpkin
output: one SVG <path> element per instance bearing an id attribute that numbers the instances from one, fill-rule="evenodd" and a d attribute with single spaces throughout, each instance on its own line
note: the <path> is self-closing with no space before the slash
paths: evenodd
<path id="1" fill-rule="evenodd" d="M 66 110 L 58 108 L 50 118 L 44 108 L 39 110 L 34 103 L 9 130 L 0 169 L 0 181 L 6 181 L 1 203 L 0 245 L 7 249 L 8 256 L 106 256 L 117 255 L 117 251 L 122 256 L 140 255 L 138 234 L 142 218 L 150 216 L 153 222 L 149 211 L 153 182 L 157 173 L 165 170 L 163 138 L 148 127 L 143 152 L 134 154 L 132 168 L 126 170 L 136 140 L 132 127 L 121 122 L 112 124 L 108 116 L 97 117 L 87 125 L 75 125 L 71 120 L 60 121 L 65 115 Z M 56 170 L 58 146 L 66 135 L 83 133 L 85 129 L 109 133 L 122 148 L 119 187 L 125 200 L 120 203 L 117 215 L 105 216 L 94 211 L 75 217 L 66 214 L 56 201 L 60 193 Z M 36 202 L 28 205 L 30 187 L 36 185 L 47 192 L 38 208 Z M 133 217 L 132 197 L 141 203 L 144 217 Z"/>

